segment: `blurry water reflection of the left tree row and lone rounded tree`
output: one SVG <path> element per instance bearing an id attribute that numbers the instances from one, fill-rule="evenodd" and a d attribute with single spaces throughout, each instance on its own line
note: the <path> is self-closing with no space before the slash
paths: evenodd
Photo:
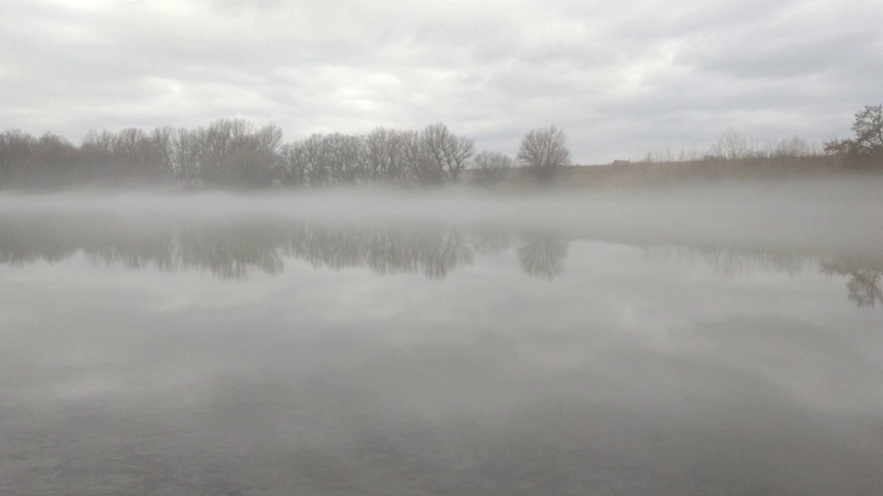
<path id="1" fill-rule="evenodd" d="M 105 217 L 0 220 L 0 262 L 55 262 L 82 251 L 95 263 L 140 269 L 196 269 L 223 279 L 280 274 L 283 257 L 333 269 L 367 267 L 375 274 L 422 274 L 443 279 L 472 265 L 475 255 L 509 250 L 505 231 L 467 234 L 449 226 L 330 226 L 309 222 L 123 222 Z M 518 254 L 532 276 L 562 274 L 567 244 L 532 236 Z"/>

